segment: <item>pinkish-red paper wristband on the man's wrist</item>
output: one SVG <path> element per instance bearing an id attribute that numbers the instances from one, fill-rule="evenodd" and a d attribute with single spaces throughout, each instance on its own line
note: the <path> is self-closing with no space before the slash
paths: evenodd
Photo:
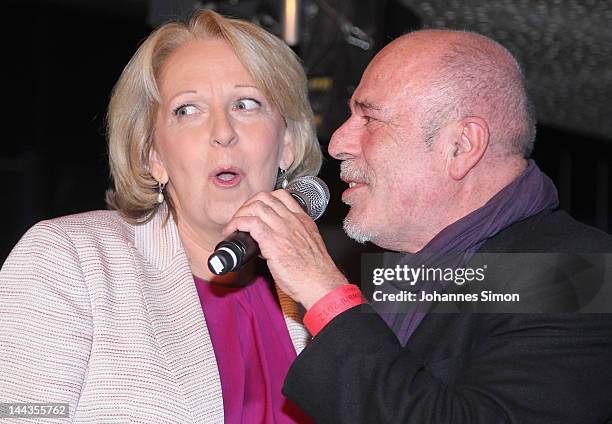
<path id="1" fill-rule="evenodd" d="M 361 290 L 354 284 L 336 287 L 317 302 L 304 315 L 304 325 L 316 336 L 332 319 L 353 306 L 367 303 Z"/>

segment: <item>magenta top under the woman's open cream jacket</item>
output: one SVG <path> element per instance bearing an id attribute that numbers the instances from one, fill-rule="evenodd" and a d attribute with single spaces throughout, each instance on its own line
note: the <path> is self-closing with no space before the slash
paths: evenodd
<path id="1" fill-rule="evenodd" d="M 311 423 L 281 393 L 295 348 L 273 286 L 246 287 L 194 277 L 217 358 L 226 424 Z"/>

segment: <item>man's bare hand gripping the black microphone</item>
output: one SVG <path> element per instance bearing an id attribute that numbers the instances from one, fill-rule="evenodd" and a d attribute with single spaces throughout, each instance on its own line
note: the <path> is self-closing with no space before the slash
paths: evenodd
<path id="1" fill-rule="evenodd" d="M 329 256 L 319 230 L 285 190 L 258 193 L 249 199 L 223 230 L 247 231 L 280 288 L 310 307 L 347 280 Z"/>

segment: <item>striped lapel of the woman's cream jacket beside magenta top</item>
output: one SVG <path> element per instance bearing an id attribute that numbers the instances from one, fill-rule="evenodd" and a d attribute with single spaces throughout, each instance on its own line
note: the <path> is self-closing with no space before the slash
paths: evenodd
<path id="1" fill-rule="evenodd" d="M 172 217 L 166 210 L 135 228 L 135 245 L 148 262 L 143 296 L 159 348 L 173 371 L 194 423 L 222 423 L 223 398 L 215 352 Z"/>

